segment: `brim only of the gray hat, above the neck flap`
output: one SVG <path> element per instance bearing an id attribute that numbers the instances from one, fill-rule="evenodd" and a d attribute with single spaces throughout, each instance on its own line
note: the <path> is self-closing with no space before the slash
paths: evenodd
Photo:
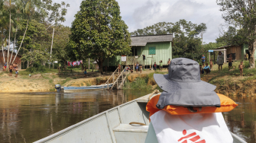
<path id="1" fill-rule="evenodd" d="M 168 75 L 154 74 L 154 81 L 158 86 L 166 92 L 174 92 L 182 89 L 190 89 L 195 91 L 214 91 L 216 86 L 207 83 L 206 81 L 198 82 L 177 82 L 171 81 Z"/>

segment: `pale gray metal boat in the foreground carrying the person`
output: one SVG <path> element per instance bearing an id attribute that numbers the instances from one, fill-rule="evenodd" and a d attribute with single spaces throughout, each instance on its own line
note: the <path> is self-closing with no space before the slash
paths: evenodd
<path id="1" fill-rule="evenodd" d="M 144 143 L 149 126 L 149 113 L 146 111 L 149 95 L 115 106 L 34 143 Z M 131 122 L 141 122 L 146 126 L 131 126 Z M 234 143 L 246 143 L 231 134 Z"/>

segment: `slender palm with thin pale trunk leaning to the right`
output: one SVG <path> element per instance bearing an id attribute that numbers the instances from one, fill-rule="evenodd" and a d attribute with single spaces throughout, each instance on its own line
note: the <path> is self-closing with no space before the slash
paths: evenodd
<path id="1" fill-rule="evenodd" d="M 26 5 L 24 5 L 24 14 L 28 17 L 28 21 L 30 20 L 31 15 L 34 14 L 35 11 L 39 11 L 42 14 L 45 14 L 45 11 L 41 8 L 41 0 L 28 0 L 26 2 Z M 21 40 L 21 45 L 23 43 L 24 37 L 26 35 L 26 32 L 28 30 L 28 21 L 27 21 L 27 26 L 23 35 L 23 38 Z M 21 49 L 21 45 L 18 48 L 18 51 Z M 13 59 L 13 61 L 11 63 L 13 63 L 16 59 L 16 56 L 18 55 L 18 51 L 15 55 L 15 58 Z"/>

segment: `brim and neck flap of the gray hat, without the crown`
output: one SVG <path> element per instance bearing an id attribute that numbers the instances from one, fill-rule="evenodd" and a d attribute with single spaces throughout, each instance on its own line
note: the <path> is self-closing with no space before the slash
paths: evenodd
<path id="1" fill-rule="evenodd" d="M 157 108 L 164 106 L 220 106 L 215 93 L 215 85 L 205 81 L 177 82 L 168 79 L 168 75 L 154 74 L 154 81 L 164 91 L 157 102 Z"/>

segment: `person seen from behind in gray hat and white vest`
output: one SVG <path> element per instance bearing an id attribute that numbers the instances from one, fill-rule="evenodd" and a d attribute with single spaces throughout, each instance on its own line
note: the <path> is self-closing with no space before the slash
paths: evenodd
<path id="1" fill-rule="evenodd" d="M 168 112 L 180 106 L 187 106 L 187 110 L 191 106 L 220 107 L 219 96 L 214 91 L 215 85 L 200 78 L 199 63 L 186 58 L 173 59 L 168 71 L 167 75 L 154 74 L 154 80 L 163 92 L 160 96 L 155 96 L 157 98 L 152 97 L 147 103 L 147 107 L 151 106 L 152 112 L 147 108 L 151 122 L 144 142 L 232 143 L 233 138 L 222 113 L 171 114 Z M 169 105 L 173 107 L 167 110 L 165 106 L 168 108 Z M 155 109 L 156 106 L 158 110 Z"/>

